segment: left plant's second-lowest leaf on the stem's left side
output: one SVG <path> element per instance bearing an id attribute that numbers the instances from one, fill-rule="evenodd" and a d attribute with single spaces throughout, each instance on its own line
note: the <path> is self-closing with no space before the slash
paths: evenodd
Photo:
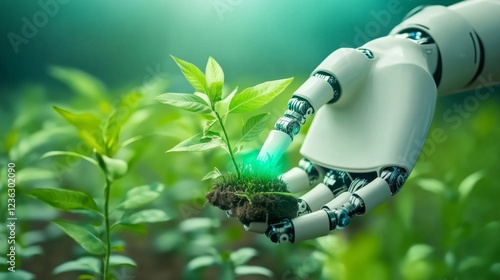
<path id="1" fill-rule="evenodd" d="M 55 221 L 53 223 L 90 254 L 103 255 L 106 252 L 106 245 L 86 228 L 65 221 Z"/>

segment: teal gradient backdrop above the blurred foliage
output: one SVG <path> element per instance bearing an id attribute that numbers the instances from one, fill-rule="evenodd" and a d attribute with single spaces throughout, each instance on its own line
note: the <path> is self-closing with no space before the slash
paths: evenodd
<path id="1" fill-rule="evenodd" d="M 3 86 L 25 80 L 46 83 L 46 69 L 51 64 L 80 68 L 111 86 L 137 85 L 148 74 L 148 66 L 175 73 L 169 54 L 195 64 L 212 55 L 228 73 L 229 81 L 242 76 L 255 81 L 306 76 L 333 50 L 383 36 L 412 8 L 432 3 L 40 1 L 45 2 L 57 7 L 38 1 L 2 1 Z M 443 5 L 453 2 L 435 1 Z M 50 11 L 47 20 L 40 15 L 47 14 L 44 6 Z M 27 30 L 29 36 L 34 34 L 32 38 L 23 36 L 24 19 L 37 29 Z M 17 46 L 17 53 L 9 40 L 11 32 L 28 41 Z"/>

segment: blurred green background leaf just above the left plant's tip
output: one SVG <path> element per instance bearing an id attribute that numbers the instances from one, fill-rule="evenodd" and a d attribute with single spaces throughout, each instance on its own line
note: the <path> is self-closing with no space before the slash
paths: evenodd
<path id="1" fill-rule="evenodd" d="M 75 68 L 51 66 L 49 73 L 52 77 L 64 82 L 73 92 L 101 101 L 106 96 L 104 84 L 95 77 Z"/>

